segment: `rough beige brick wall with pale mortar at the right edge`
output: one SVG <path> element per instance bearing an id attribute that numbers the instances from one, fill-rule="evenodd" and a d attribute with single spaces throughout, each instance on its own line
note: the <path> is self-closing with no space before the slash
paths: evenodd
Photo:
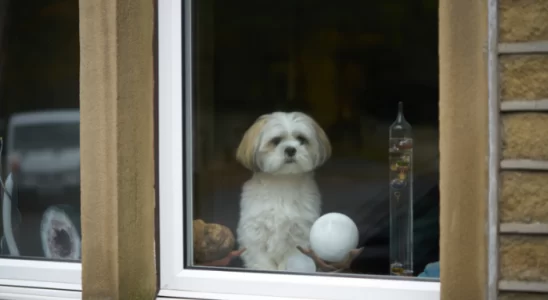
<path id="1" fill-rule="evenodd" d="M 548 299 L 548 0 L 499 10 L 499 299 Z"/>

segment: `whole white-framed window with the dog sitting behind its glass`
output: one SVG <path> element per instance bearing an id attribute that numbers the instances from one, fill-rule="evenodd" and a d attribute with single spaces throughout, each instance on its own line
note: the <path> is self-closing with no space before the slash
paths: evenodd
<path id="1" fill-rule="evenodd" d="M 437 1 L 164 0 L 158 13 L 160 296 L 439 299 L 423 272 L 439 260 Z M 351 263 L 307 243 L 328 213 L 350 220 L 329 241 L 355 230 L 337 244 Z M 295 245 L 324 257 L 318 272 Z"/>

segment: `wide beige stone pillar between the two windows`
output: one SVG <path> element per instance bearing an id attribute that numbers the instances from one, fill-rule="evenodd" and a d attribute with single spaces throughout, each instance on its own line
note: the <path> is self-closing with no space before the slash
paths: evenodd
<path id="1" fill-rule="evenodd" d="M 155 299 L 154 3 L 79 11 L 82 299 Z"/>

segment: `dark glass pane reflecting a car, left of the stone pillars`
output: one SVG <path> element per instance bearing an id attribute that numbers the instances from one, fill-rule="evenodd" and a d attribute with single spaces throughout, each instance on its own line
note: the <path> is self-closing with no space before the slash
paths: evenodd
<path id="1" fill-rule="evenodd" d="M 1 257 L 80 260 L 79 55 L 78 1 L 0 1 Z"/>

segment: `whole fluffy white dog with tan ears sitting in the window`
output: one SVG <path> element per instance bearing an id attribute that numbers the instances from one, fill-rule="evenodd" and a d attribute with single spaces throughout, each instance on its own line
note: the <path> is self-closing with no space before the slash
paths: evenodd
<path id="1" fill-rule="evenodd" d="M 243 186 L 237 230 L 246 268 L 285 270 L 297 246 L 309 247 L 321 210 L 313 172 L 330 156 L 325 132 L 304 113 L 263 115 L 246 131 L 236 154 L 254 172 Z"/>

